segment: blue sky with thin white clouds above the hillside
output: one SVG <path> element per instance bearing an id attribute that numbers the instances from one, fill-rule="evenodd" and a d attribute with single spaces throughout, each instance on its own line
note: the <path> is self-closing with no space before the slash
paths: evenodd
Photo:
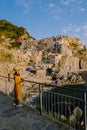
<path id="1" fill-rule="evenodd" d="M 40 40 L 72 36 L 87 46 L 87 0 L 0 0 L 0 20 L 27 29 Z"/>

